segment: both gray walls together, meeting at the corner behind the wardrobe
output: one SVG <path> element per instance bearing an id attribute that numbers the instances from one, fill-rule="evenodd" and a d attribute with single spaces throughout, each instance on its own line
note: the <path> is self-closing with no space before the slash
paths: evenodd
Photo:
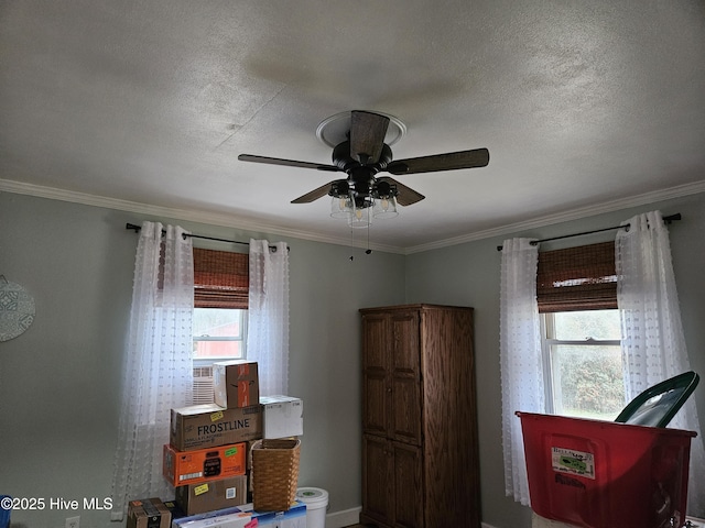
<path id="1" fill-rule="evenodd" d="M 0 343 L 0 494 L 47 502 L 109 495 L 137 246 L 124 224 L 149 219 L 198 234 L 284 240 L 291 246 L 290 393 L 305 402 L 300 485 L 326 488 L 332 513 L 360 505 L 357 310 L 405 301 L 475 307 L 482 519 L 497 528 L 529 527 L 529 509 L 503 493 L 496 246 L 514 235 L 545 238 L 614 226 L 652 209 L 684 217 L 671 227 L 671 242 L 691 362 L 703 374 L 705 195 L 402 256 L 0 194 L 0 274 L 24 285 L 36 302 L 30 330 Z M 571 243 L 599 240 L 606 239 Z M 704 394 L 698 387 L 705 422 Z M 83 527 L 116 526 L 107 513 L 83 508 L 15 512 L 12 520 L 63 528 L 73 515 L 80 515 Z"/>

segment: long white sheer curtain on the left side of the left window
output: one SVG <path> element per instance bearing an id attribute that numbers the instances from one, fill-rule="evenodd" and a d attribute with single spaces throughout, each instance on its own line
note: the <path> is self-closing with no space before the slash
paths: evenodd
<path id="1" fill-rule="evenodd" d="M 122 372 L 112 520 L 123 518 L 128 501 L 173 496 L 162 476 L 162 447 L 169 443 L 171 409 L 189 405 L 193 392 L 193 249 L 183 233 L 178 227 L 153 222 L 144 222 L 140 231 Z"/>

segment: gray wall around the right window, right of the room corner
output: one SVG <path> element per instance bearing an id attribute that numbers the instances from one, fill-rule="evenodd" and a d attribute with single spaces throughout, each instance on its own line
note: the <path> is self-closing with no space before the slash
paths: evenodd
<path id="1" fill-rule="evenodd" d="M 406 300 L 475 307 L 475 346 L 480 438 L 482 520 L 497 528 L 531 526 L 531 512 L 505 496 L 501 446 L 501 389 L 499 370 L 499 266 L 497 246 L 513 237 L 545 239 L 619 226 L 638 212 L 659 209 L 681 212 L 669 228 L 673 266 L 691 366 L 705 375 L 705 195 L 690 196 L 646 207 L 564 222 L 501 238 L 480 240 L 406 257 Z M 615 231 L 550 242 L 543 249 L 614 240 Z M 705 424 L 705 387 L 696 389 L 701 424 Z M 520 409 L 517 409 L 520 410 Z M 701 474 L 705 468 L 697 469 Z"/>

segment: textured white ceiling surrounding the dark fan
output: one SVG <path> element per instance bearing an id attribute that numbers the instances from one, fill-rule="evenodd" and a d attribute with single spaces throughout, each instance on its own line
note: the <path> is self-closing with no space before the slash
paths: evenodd
<path id="1" fill-rule="evenodd" d="M 330 163 L 352 109 L 406 125 L 394 158 L 490 151 L 399 176 L 390 251 L 705 190 L 705 3 L 0 0 L 0 188 L 347 243 L 290 204 L 340 175 L 237 156 Z"/>

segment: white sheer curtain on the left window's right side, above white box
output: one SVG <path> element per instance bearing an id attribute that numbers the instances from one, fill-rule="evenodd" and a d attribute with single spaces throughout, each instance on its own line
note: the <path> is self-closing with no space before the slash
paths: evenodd
<path id="1" fill-rule="evenodd" d="M 270 248 L 271 246 L 271 248 Z M 289 392 L 289 249 L 250 240 L 247 356 L 258 362 L 260 394 Z"/>

